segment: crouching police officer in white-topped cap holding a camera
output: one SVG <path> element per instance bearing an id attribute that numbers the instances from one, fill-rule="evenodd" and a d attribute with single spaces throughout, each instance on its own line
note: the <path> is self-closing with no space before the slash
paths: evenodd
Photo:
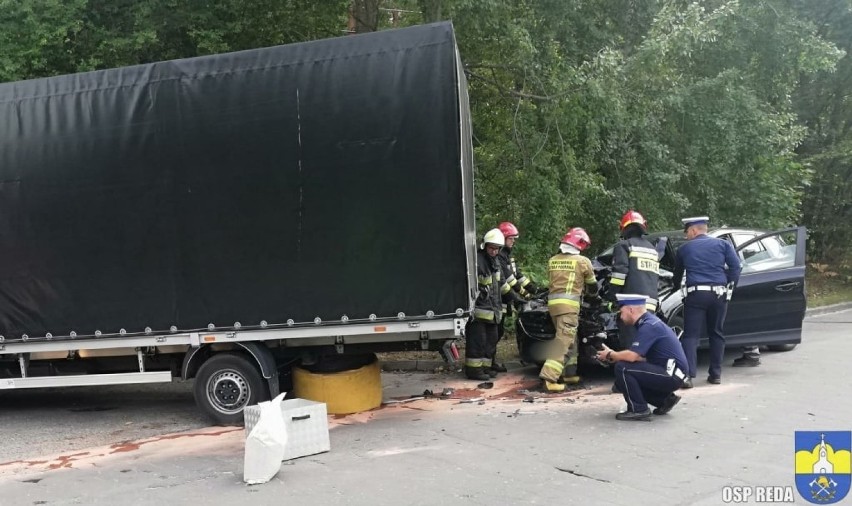
<path id="1" fill-rule="evenodd" d="M 619 316 L 636 327 L 636 337 L 626 350 L 603 345 L 597 354 L 601 362 L 615 363 L 615 383 L 627 401 L 627 410 L 615 418 L 647 420 L 648 404 L 656 406 L 655 415 L 665 415 L 680 402 L 674 392 L 687 377 L 686 355 L 674 331 L 645 308 L 647 297 L 618 294 L 616 299 Z"/>

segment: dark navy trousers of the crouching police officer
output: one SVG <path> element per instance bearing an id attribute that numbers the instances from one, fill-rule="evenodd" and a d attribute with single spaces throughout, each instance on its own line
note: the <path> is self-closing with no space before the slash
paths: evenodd
<path id="1" fill-rule="evenodd" d="M 642 413 L 648 404 L 660 407 L 663 400 L 683 382 L 666 373 L 666 368 L 648 362 L 616 362 L 615 384 L 627 402 L 627 410 Z"/>

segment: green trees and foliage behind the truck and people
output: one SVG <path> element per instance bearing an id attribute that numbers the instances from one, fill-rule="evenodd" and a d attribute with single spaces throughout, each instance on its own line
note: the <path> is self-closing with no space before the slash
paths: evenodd
<path id="1" fill-rule="evenodd" d="M 542 265 L 635 208 L 852 244 L 849 0 L 0 0 L 0 80 L 453 21 L 481 232 Z M 356 24 L 364 28 L 364 23 Z"/>

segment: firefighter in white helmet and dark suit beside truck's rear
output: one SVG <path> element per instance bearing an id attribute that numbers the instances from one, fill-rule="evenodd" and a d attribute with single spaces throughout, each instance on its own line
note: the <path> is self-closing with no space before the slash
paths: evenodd
<path id="1" fill-rule="evenodd" d="M 469 379 L 485 381 L 491 378 L 488 370 L 497 349 L 497 327 L 501 324 L 500 263 L 497 255 L 505 244 L 500 229 L 485 233 L 476 254 L 476 277 L 479 294 L 465 332 L 464 373 Z"/>

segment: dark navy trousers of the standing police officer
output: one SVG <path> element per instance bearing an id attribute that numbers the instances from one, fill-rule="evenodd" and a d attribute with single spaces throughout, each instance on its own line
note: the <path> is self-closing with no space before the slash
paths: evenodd
<path id="1" fill-rule="evenodd" d="M 683 303 L 683 336 L 680 339 L 689 376 L 694 378 L 698 368 L 698 340 L 702 329 L 707 329 L 710 341 L 710 371 L 713 378 L 722 377 L 722 359 L 725 356 L 725 336 L 722 325 L 728 312 L 728 299 L 710 291 L 694 291 L 686 296 Z"/>

